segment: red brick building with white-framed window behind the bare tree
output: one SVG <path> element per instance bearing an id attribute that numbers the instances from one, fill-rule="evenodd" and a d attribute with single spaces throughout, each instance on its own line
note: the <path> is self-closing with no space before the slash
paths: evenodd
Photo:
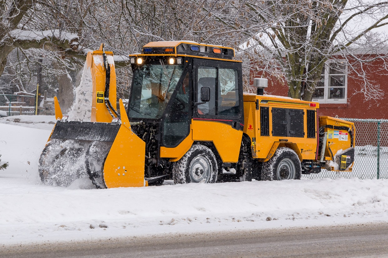
<path id="1" fill-rule="evenodd" d="M 371 59 L 371 55 L 368 58 Z M 377 55 L 376 55 L 377 57 Z M 340 60 L 341 61 L 341 60 Z M 376 58 L 373 62 L 354 66 L 326 64 L 322 71 L 322 79 L 315 89 L 313 101 L 319 104 L 319 115 L 336 116 L 340 118 L 388 119 L 388 108 L 385 99 L 388 98 L 388 71 L 384 70 L 385 62 Z M 359 70 L 357 70 L 359 69 Z M 379 85 L 384 92 L 384 99 L 365 101 L 363 91 L 364 80 L 357 76 L 361 69 Z M 282 82 L 268 78 L 267 94 L 287 96 L 288 86 Z"/>

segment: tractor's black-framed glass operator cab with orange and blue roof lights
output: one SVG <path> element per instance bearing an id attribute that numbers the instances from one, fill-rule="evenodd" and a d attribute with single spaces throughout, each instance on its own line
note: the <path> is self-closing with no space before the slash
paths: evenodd
<path id="1" fill-rule="evenodd" d="M 193 120 L 242 131 L 241 61 L 233 59 L 232 48 L 189 41 L 151 42 L 141 54 L 130 55 L 133 80 L 127 114 L 131 122 L 155 129 L 146 146 L 154 140 L 161 147 L 177 147 L 189 136 Z M 149 137 L 139 127 L 133 129 L 139 137 Z"/>

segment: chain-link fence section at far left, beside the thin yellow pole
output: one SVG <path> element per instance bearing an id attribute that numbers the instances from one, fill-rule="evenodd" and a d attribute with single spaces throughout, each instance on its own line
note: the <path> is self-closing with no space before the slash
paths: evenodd
<path id="1" fill-rule="evenodd" d="M 35 114 L 36 96 L 0 94 L 0 117 Z"/>

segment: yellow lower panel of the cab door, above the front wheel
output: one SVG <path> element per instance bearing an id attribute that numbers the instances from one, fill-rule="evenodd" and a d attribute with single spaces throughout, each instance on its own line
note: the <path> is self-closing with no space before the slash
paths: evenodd
<path id="1" fill-rule="evenodd" d="M 239 159 L 242 132 L 217 121 L 192 120 L 194 141 L 214 143 L 222 162 L 237 162 Z"/>

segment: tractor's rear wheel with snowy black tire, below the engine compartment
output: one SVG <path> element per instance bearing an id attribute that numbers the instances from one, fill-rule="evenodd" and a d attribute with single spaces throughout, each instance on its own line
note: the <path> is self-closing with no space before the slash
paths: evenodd
<path id="1" fill-rule="evenodd" d="M 298 155 L 290 148 L 278 148 L 272 158 L 263 162 L 262 180 L 300 179 L 301 164 Z"/>

